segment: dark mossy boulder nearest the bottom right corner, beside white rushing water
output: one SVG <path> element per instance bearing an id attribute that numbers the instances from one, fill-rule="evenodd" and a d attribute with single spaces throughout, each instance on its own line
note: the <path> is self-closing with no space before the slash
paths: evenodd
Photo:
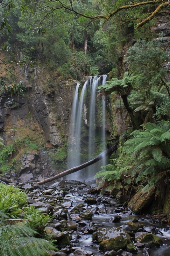
<path id="1" fill-rule="evenodd" d="M 159 238 L 159 236 L 156 236 L 152 233 L 146 233 L 141 236 L 138 236 L 135 241 L 137 243 L 141 244 L 149 244 L 150 246 L 155 245 L 157 247 L 161 246 L 163 244 L 162 240 Z M 138 246 L 138 245 L 137 245 Z"/>

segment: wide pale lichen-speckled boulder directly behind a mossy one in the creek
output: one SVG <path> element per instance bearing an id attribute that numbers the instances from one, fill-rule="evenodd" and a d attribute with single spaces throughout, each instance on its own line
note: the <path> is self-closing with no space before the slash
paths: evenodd
<path id="1" fill-rule="evenodd" d="M 98 228 L 97 229 L 97 241 L 99 243 L 103 240 L 107 240 L 117 236 L 123 236 L 124 239 L 128 242 L 128 244 L 131 243 L 131 237 L 122 228 Z"/>

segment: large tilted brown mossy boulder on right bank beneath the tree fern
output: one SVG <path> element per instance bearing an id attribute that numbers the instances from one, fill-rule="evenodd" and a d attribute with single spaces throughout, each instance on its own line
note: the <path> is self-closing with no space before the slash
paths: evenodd
<path id="1" fill-rule="evenodd" d="M 155 188 L 151 188 L 147 193 L 142 193 L 138 191 L 135 196 L 133 196 L 128 204 L 128 207 L 135 214 L 140 214 L 143 210 L 151 205 L 154 200 Z M 148 209 L 147 209 L 148 210 Z"/>

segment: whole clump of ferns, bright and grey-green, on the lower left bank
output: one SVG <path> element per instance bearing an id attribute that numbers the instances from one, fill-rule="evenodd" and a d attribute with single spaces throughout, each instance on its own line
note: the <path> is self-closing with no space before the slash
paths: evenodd
<path id="1" fill-rule="evenodd" d="M 2 256 L 49 255 L 57 250 L 44 228 L 52 220 L 27 203 L 27 193 L 17 187 L 0 184 L 0 249 Z M 22 213 L 22 214 L 21 214 Z M 24 216 L 21 225 L 9 225 L 10 218 Z M 42 239 L 45 238 L 45 239 Z M 48 241 L 49 240 L 49 241 Z M 57 242 L 57 241 L 55 241 Z"/>

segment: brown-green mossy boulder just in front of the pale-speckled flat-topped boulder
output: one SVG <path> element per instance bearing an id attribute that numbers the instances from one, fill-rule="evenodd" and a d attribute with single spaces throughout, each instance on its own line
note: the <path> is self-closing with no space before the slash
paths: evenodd
<path id="1" fill-rule="evenodd" d="M 104 240 L 99 244 L 99 248 L 101 251 L 118 251 L 119 249 L 125 249 L 127 246 L 127 241 L 123 236 L 116 236 L 114 238 L 110 238 L 108 240 Z"/>

